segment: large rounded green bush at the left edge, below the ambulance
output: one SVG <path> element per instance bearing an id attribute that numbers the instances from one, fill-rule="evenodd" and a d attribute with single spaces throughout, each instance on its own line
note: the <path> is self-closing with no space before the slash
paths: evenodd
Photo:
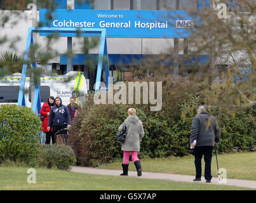
<path id="1" fill-rule="evenodd" d="M 0 162 L 29 163 L 39 152 L 41 121 L 31 108 L 0 106 Z"/>

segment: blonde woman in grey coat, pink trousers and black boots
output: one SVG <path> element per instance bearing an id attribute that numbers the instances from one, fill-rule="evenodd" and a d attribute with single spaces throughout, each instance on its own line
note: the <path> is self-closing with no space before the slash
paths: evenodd
<path id="1" fill-rule="evenodd" d="M 133 160 L 135 167 L 137 169 L 138 176 L 142 175 L 142 169 L 140 165 L 140 160 L 138 159 L 138 152 L 140 152 L 140 141 L 144 137 L 144 129 L 142 126 L 142 122 L 138 119 L 136 115 L 135 108 L 128 109 L 128 117 L 125 119 L 125 122 L 121 124 L 118 128 L 118 131 L 121 131 L 126 126 L 126 139 L 125 142 L 122 143 L 122 151 L 123 151 L 123 173 L 121 176 L 128 176 L 128 166 L 129 166 L 129 158 L 131 152 L 131 159 Z"/>

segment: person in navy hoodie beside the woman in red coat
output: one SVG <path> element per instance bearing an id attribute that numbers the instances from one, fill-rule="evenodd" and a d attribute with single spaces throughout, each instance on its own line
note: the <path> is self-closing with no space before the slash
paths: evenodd
<path id="1" fill-rule="evenodd" d="M 69 114 L 69 109 L 62 104 L 62 99 L 58 96 L 55 98 L 55 103 L 55 106 L 51 108 L 48 121 L 48 130 L 50 130 L 50 126 L 53 126 L 54 135 L 60 129 L 71 128 L 71 115 Z M 60 133 L 67 134 L 67 131 L 61 131 Z"/>

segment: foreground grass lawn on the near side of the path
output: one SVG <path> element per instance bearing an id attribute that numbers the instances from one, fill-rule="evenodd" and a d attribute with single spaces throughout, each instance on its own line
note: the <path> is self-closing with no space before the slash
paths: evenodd
<path id="1" fill-rule="evenodd" d="M 248 190 L 248 188 L 147 180 L 36 168 L 36 184 L 27 183 L 28 167 L 0 167 L 0 190 Z"/>

